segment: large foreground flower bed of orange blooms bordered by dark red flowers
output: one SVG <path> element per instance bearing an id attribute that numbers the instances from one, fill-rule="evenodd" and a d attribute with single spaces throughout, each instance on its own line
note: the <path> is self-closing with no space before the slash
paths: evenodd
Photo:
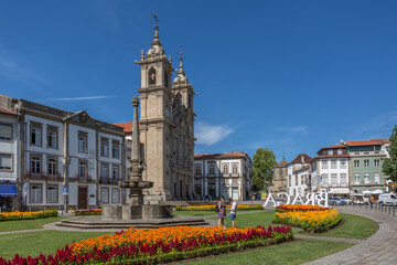
<path id="1" fill-rule="evenodd" d="M 290 226 L 256 229 L 175 226 L 101 235 L 66 245 L 54 255 L 0 257 L 0 264 L 158 264 L 227 253 L 292 240 Z"/>

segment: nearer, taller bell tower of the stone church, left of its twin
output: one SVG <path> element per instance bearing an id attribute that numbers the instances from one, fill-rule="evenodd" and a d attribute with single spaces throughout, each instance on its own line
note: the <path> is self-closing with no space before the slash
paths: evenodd
<path id="1" fill-rule="evenodd" d="M 170 128 L 171 118 L 171 56 L 159 39 L 159 26 L 154 26 L 154 40 L 147 55 L 142 50 L 140 97 L 140 137 L 147 165 L 142 179 L 152 181 L 153 188 L 146 194 L 152 202 L 173 199 L 173 186 L 170 171 Z"/>

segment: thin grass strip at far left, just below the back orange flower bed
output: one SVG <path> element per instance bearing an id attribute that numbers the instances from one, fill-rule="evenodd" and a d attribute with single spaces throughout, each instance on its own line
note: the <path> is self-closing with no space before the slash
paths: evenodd
<path id="1" fill-rule="evenodd" d="M 60 222 L 65 218 L 46 218 L 35 220 L 1 221 L 0 232 L 42 229 L 44 224 Z"/>

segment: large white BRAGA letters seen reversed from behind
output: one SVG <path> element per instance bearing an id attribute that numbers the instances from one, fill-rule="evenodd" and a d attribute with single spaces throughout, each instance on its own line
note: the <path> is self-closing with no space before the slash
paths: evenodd
<path id="1" fill-rule="evenodd" d="M 307 193 L 305 195 L 303 195 L 303 199 L 305 200 L 305 202 L 303 202 L 302 197 L 301 195 L 296 195 L 291 202 L 291 197 L 289 194 L 287 194 L 286 192 L 280 192 L 277 193 L 278 198 L 281 198 L 282 195 L 287 197 L 287 202 L 286 204 L 304 204 L 304 205 L 315 205 L 318 204 L 319 206 L 329 206 L 328 205 L 328 192 L 320 192 L 320 193 Z M 281 203 L 280 202 L 276 202 L 273 194 L 269 193 L 264 208 L 267 206 L 267 204 L 271 202 L 272 206 L 279 206 Z"/>

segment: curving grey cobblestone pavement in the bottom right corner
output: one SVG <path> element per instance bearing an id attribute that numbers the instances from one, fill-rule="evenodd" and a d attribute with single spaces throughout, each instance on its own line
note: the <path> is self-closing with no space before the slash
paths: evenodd
<path id="1" fill-rule="evenodd" d="M 337 211 L 372 219 L 379 230 L 355 246 L 304 264 L 397 264 L 397 216 L 365 208 L 341 206 Z"/>

